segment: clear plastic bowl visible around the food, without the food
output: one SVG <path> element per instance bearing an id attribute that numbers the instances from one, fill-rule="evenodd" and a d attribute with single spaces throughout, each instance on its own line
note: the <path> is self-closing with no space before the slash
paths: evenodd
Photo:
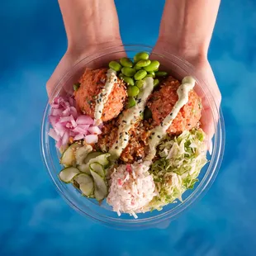
<path id="1" fill-rule="evenodd" d="M 105 50 L 99 51 L 94 55 L 90 55 L 73 66 L 68 73 L 64 75 L 58 84 L 56 84 L 55 91 L 52 97 L 58 96 L 60 93 L 67 93 L 73 91 L 73 83 L 78 81 L 78 78 L 83 73 L 85 67 L 100 68 L 106 66 L 109 60 L 119 59 L 122 56 L 127 55 L 133 57 L 140 51 L 152 52 L 152 48 L 146 45 L 121 45 L 118 47 L 111 47 Z M 179 59 L 177 56 L 163 53 L 158 54 L 154 52 L 152 59 L 159 59 L 160 63 L 168 69 L 168 72 L 173 75 L 174 78 L 183 78 L 186 75 L 192 75 L 197 80 L 197 90 L 201 90 L 206 96 L 206 100 L 211 102 L 211 114 L 216 123 L 215 136 L 212 139 L 212 154 L 208 154 L 207 157 L 210 160 L 204 168 L 201 169 L 199 176 L 199 182 L 196 183 L 193 190 L 188 190 L 183 193 L 183 202 L 178 201 L 168 206 L 164 206 L 162 211 L 152 211 L 147 213 L 138 214 L 138 219 L 128 214 L 121 214 L 117 216 L 116 212 L 111 211 L 111 207 L 107 206 L 104 202 L 101 206 L 97 201 L 82 197 L 81 194 L 72 185 L 62 183 L 58 174 L 62 168 L 59 164 L 59 153 L 55 148 L 55 141 L 48 135 L 50 129 L 50 122 L 48 116 L 50 115 L 50 104 L 47 103 L 45 107 L 45 113 L 41 126 L 41 151 L 42 157 L 45 162 L 45 166 L 50 173 L 55 186 L 58 188 L 59 193 L 69 203 L 73 209 L 77 210 L 83 216 L 88 216 L 93 220 L 102 222 L 105 225 L 117 228 L 117 229 L 135 229 L 156 226 L 160 221 L 173 220 L 191 206 L 192 203 L 201 198 L 206 190 L 211 187 L 216 174 L 220 168 L 224 145 L 225 145 L 225 130 L 224 120 L 221 111 L 216 106 L 216 102 L 211 95 L 211 92 L 207 88 L 205 81 L 198 77 L 198 72 L 183 59 Z M 51 97 L 51 98 L 52 98 Z"/>

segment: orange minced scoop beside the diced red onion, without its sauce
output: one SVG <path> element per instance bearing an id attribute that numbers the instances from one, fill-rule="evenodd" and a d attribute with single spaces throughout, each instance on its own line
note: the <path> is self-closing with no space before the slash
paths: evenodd
<path id="1" fill-rule="evenodd" d="M 79 79 L 80 88 L 74 93 L 74 98 L 83 113 L 94 118 L 97 96 L 107 81 L 107 69 L 85 69 Z M 109 121 L 118 116 L 126 102 L 127 92 L 125 84 L 116 79 L 111 93 L 104 104 L 102 121 Z"/>

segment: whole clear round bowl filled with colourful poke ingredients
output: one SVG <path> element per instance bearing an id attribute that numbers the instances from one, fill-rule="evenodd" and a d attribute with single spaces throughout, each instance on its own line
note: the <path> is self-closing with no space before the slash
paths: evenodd
<path id="1" fill-rule="evenodd" d="M 212 154 L 202 95 L 215 128 Z M 224 141 L 223 116 L 197 70 L 145 45 L 79 61 L 56 85 L 41 127 L 45 166 L 64 199 L 125 229 L 173 220 L 202 197 Z"/>

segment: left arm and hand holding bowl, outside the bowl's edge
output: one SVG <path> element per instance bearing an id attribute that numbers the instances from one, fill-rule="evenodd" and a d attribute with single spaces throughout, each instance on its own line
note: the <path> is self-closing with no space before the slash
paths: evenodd
<path id="1" fill-rule="evenodd" d="M 59 0 L 59 7 L 67 33 L 68 50 L 46 83 L 49 97 L 59 80 L 79 60 L 107 47 L 121 45 L 113 0 Z M 109 58 L 115 59 L 116 56 Z"/>

